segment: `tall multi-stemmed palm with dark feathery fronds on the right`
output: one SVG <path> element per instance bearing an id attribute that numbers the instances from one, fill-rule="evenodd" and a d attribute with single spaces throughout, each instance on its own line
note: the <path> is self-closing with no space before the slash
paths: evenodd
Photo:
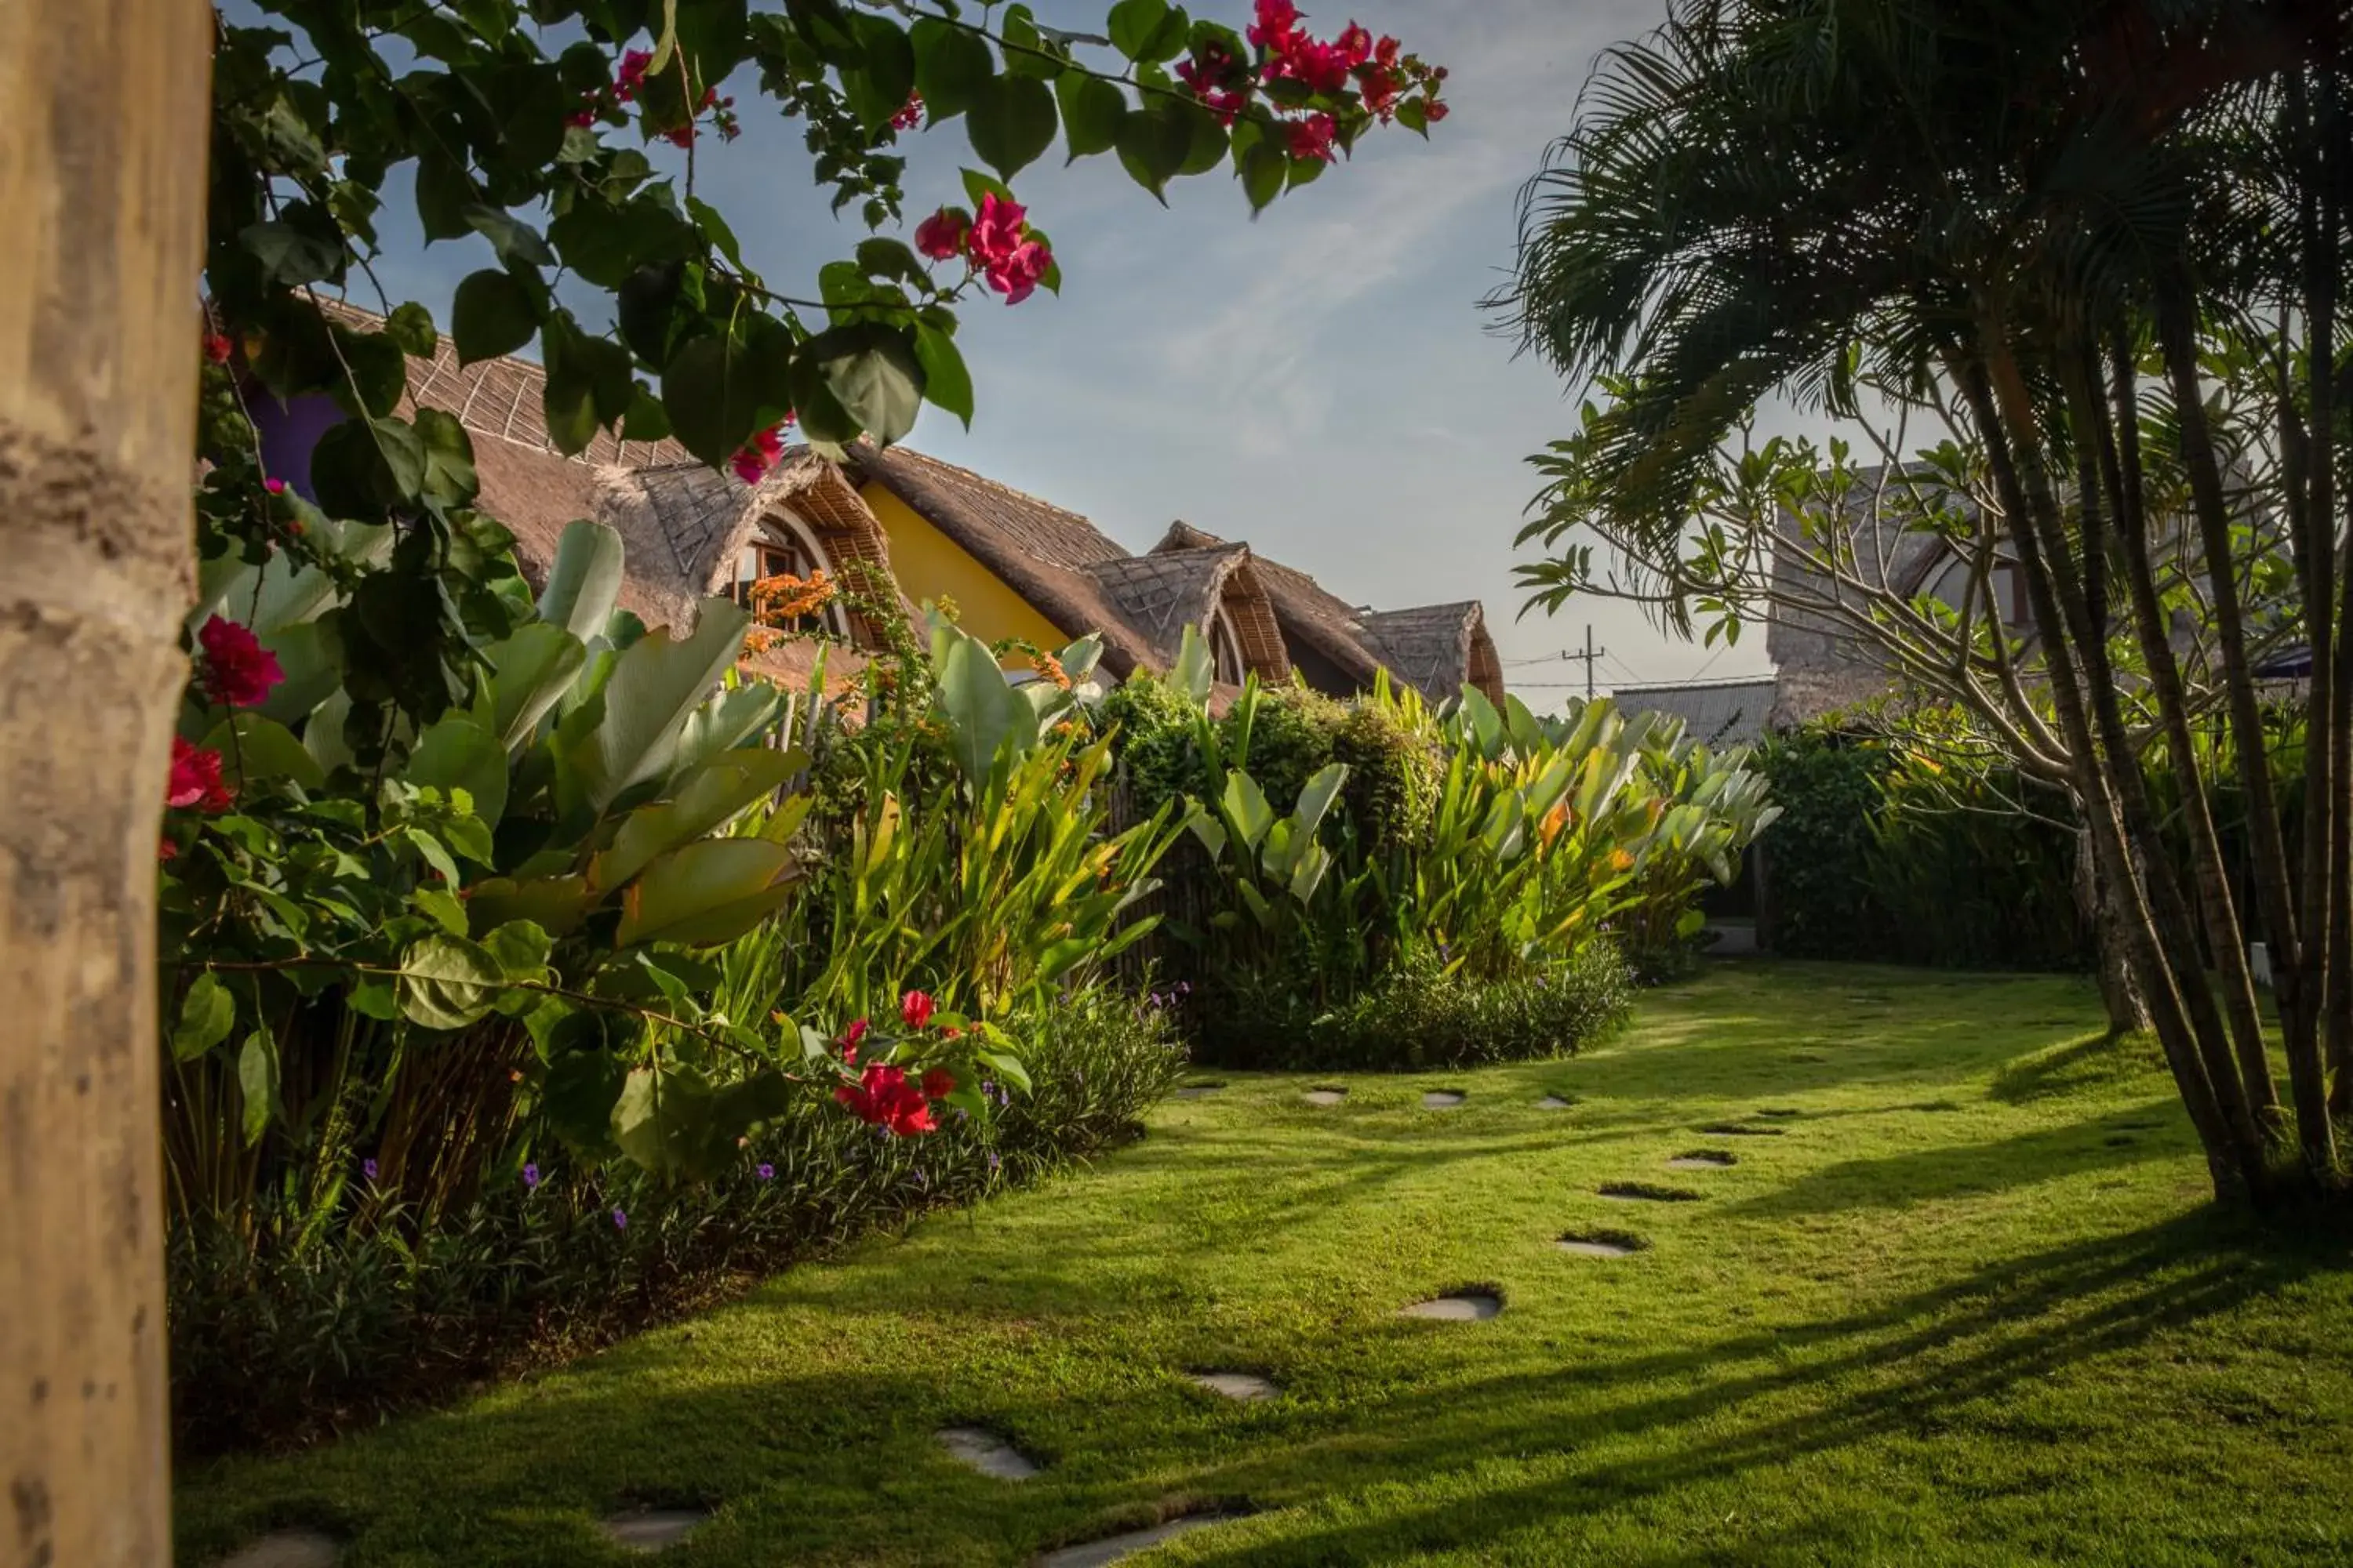
<path id="1" fill-rule="evenodd" d="M 2282 1023 L 2299 1140 L 2308 1173 L 2332 1180 L 2313 1025 L 2320 999 L 2334 1006 L 2353 983 L 2353 966 L 2327 957 L 2348 929 L 2344 856 L 2327 846 L 2353 820 L 2332 757 L 2353 731 L 2327 729 L 2344 693 L 2318 679 L 2299 924 L 2198 355 L 2217 317 L 2245 317 L 2282 287 L 2304 306 L 2297 331 L 2334 343 L 2325 301 L 2346 209 L 2311 186 L 2341 165 L 2308 148 L 2339 132 L 2329 118 L 2315 134 L 2306 113 L 2297 134 L 2275 134 L 2294 96 L 2275 85 L 2313 78 L 2334 115 L 2337 26 L 2327 7 L 2219 0 L 1692 0 L 1607 56 L 1529 186 L 1518 277 L 1497 301 L 1565 376 L 1612 390 L 1539 529 L 1631 543 L 1628 585 L 1675 625 L 1689 625 L 1673 562 L 1689 555 L 1694 489 L 1765 395 L 1852 414 L 1866 386 L 1962 425 L 1998 498 L 1984 527 L 2021 567 L 2042 651 L 2031 684 L 2005 684 L 2012 733 L 2042 733 L 2064 755 L 2217 1190 L 2254 1197 L 2278 1185 L 2275 1088 L 2240 914 L 2195 788 L 2188 884 L 2165 856 L 2111 632 L 2122 597 L 2162 743 L 2195 780 L 2195 693 L 2148 550 L 2151 409 L 2132 376 L 2151 343 L 2214 585 L 2219 663 L 2202 679 L 2233 719 L 2259 818 L 2266 931 L 2292 933 Z M 2313 167 L 2271 190 L 2212 179 L 2266 155 Z M 2301 193 L 2287 197 L 2304 219 L 2294 235 L 2271 212 L 2280 190 Z M 2306 451 L 2334 451 L 2325 395 L 2299 407 L 2282 386 L 2271 402 Z M 2329 494 L 2325 470 L 2306 463 L 2292 534 L 2313 649 L 2334 658 L 2341 574 L 2318 564 L 2334 529 L 2327 505 L 2311 505 L 2313 489 Z M 1555 597 L 1574 578 L 1558 564 L 1537 574 Z"/>

